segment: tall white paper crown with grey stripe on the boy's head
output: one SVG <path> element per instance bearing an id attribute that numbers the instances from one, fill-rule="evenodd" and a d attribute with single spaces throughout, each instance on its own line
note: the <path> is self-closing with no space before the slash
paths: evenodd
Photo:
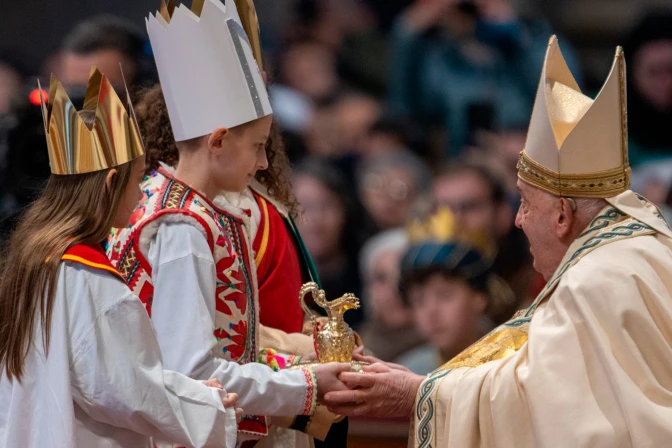
<path id="1" fill-rule="evenodd" d="M 146 22 L 176 141 L 273 113 L 233 0 L 162 0 Z"/>

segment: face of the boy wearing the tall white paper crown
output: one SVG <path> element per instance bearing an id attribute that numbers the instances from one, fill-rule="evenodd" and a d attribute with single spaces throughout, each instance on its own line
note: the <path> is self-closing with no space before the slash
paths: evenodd
<path id="1" fill-rule="evenodd" d="M 220 190 L 241 192 L 257 171 L 268 168 L 266 140 L 271 131 L 271 115 L 230 129 L 214 155 L 214 170 Z"/>

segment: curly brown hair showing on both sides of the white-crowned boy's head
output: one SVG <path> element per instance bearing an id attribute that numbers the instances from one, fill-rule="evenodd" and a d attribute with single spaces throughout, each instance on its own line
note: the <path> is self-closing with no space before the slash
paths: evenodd
<path id="1" fill-rule="evenodd" d="M 170 127 L 168 108 L 163 98 L 161 85 L 142 90 L 135 105 L 140 135 L 145 143 L 147 170 L 149 174 L 159 167 L 159 162 L 177 166 L 180 154 Z M 285 153 L 282 131 L 273 121 L 266 141 L 268 169 L 257 171 L 256 179 L 268 190 L 268 194 L 283 204 L 292 216 L 296 216 L 297 203 L 291 184 L 291 168 Z"/>

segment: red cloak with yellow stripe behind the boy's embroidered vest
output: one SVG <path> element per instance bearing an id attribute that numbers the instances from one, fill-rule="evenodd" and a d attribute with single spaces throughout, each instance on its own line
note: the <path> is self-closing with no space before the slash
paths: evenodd
<path id="1" fill-rule="evenodd" d="M 299 333 L 303 328 L 299 303 L 303 283 L 296 245 L 278 209 L 253 193 L 261 211 L 252 245 L 259 283 L 259 321 L 286 333 Z"/>

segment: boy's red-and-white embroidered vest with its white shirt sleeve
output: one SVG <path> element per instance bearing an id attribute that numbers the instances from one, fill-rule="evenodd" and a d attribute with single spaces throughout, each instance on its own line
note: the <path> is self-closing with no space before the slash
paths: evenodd
<path id="1" fill-rule="evenodd" d="M 250 414 L 312 414 L 312 371 L 254 363 L 259 306 L 248 217 L 216 207 L 163 169 L 141 188 L 131 226 L 113 233 L 108 256 L 145 303 L 166 368 L 217 378 Z M 240 429 L 263 435 L 265 418 L 246 417 Z"/>

